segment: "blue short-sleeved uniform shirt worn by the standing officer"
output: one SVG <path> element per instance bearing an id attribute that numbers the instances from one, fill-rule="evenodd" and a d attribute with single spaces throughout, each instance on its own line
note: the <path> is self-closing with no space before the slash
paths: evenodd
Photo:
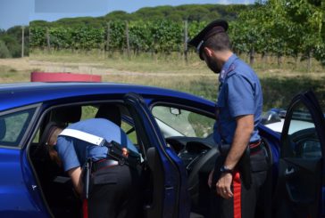
<path id="1" fill-rule="evenodd" d="M 223 65 L 216 104 L 217 121 L 213 138 L 217 144 L 232 143 L 236 117 L 254 115 L 254 132 L 250 142 L 258 141 L 257 125 L 262 118 L 262 87 L 254 70 L 233 54 Z"/>

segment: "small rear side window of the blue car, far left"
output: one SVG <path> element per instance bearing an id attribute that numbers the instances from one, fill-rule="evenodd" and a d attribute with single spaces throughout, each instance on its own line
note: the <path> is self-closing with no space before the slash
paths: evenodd
<path id="1" fill-rule="evenodd" d="M 0 145 L 19 147 L 36 109 L 23 109 L 0 116 Z"/>

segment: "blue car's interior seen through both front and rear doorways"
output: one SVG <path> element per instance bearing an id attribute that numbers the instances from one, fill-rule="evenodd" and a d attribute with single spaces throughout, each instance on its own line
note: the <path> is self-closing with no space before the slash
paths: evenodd
<path id="1" fill-rule="evenodd" d="M 186 111 L 179 110 L 177 113 L 185 114 Z M 171 115 L 169 114 L 172 117 L 181 117 L 180 115 L 175 116 L 175 111 L 171 111 Z M 42 141 L 46 124 L 55 122 L 57 125 L 65 127 L 91 117 L 107 118 L 116 125 L 120 125 L 142 153 L 144 159 L 142 163 L 144 195 L 141 200 L 143 200 L 144 207 L 143 210 L 139 210 L 139 217 L 153 217 L 154 214 L 162 210 L 162 195 L 159 193 L 162 189 L 154 189 L 163 186 L 162 164 L 156 150 L 144 147 L 144 144 L 147 143 L 144 140 L 146 137 L 138 133 L 129 110 L 121 102 L 64 105 L 60 108 L 54 107 L 47 110 L 43 116 L 33 143 L 29 146 L 29 157 L 49 211 L 54 217 L 78 217 L 81 215 L 81 201 L 73 190 L 68 175 L 63 172 L 60 166 L 54 164 L 48 155 L 46 141 Z M 166 128 L 168 125 L 164 123 L 162 117 L 154 117 L 158 124 L 162 123 L 160 127 L 167 144 L 178 154 L 187 169 L 187 190 L 191 198 L 191 217 L 206 216 L 209 207 L 209 198 L 206 197 L 209 196 L 210 192 L 207 186 L 207 178 L 218 154 L 218 150 L 213 147 L 212 134 L 204 133 L 201 137 L 196 137 L 192 134 L 182 134 L 181 131 L 176 133 L 175 130 L 171 131 Z"/>

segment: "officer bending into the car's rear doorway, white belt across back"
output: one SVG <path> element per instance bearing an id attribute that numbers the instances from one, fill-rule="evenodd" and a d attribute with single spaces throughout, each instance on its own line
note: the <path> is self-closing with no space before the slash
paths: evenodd
<path id="1" fill-rule="evenodd" d="M 140 156 L 118 125 L 92 118 L 44 131 L 52 159 L 83 199 L 84 217 L 137 217 Z"/>

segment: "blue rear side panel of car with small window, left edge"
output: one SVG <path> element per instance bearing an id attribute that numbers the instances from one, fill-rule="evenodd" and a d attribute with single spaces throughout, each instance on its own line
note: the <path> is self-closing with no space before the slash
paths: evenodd
<path id="1" fill-rule="evenodd" d="M 0 112 L 0 217 L 47 217 L 26 156 L 37 105 Z"/>

